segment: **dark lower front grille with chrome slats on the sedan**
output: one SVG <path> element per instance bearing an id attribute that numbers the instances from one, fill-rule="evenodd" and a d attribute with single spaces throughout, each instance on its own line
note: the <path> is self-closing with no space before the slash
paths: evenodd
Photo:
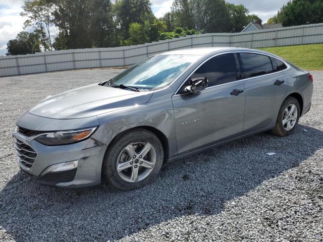
<path id="1" fill-rule="evenodd" d="M 37 152 L 31 146 L 17 139 L 15 142 L 15 148 L 20 163 L 26 166 L 27 168 L 30 168 L 37 157 Z"/>

